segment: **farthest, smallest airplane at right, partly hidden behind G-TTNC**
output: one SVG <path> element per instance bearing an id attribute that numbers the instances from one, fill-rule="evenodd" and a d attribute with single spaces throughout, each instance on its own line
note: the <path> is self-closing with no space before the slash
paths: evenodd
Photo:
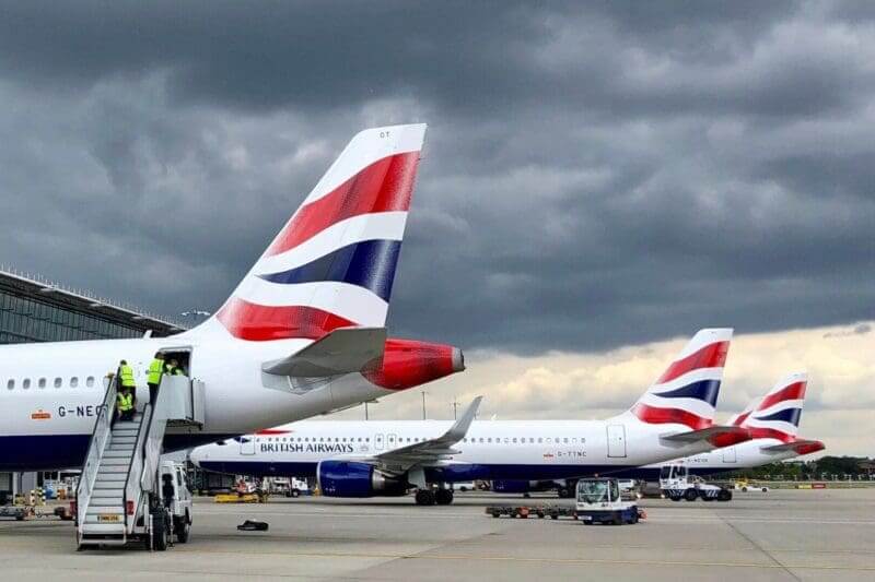
<path id="1" fill-rule="evenodd" d="M 807 385 L 806 372 L 788 375 L 728 420 L 749 430 L 751 440 L 644 468 L 650 470 L 651 478 L 658 478 L 668 465 L 686 465 L 690 474 L 713 475 L 822 451 L 826 446 L 821 441 L 796 437 Z"/>

